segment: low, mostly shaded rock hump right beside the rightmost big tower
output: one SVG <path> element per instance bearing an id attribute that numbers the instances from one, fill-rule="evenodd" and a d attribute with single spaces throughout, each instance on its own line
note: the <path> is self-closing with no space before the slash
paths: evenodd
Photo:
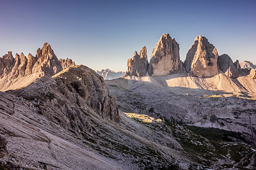
<path id="1" fill-rule="evenodd" d="M 233 79 L 239 77 L 239 67 L 237 69 L 237 62 L 234 63 L 227 54 L 218 57 L 218 66 L 226 76 Z"/>

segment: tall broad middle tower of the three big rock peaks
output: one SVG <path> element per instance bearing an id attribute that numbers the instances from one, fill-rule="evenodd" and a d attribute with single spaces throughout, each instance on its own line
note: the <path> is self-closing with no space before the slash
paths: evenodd
<path id="1" fill-rule="evenodd" d="M 169 34 L 163 34 L 156 44 L 148 65 L 148 75 L 164 76 L 177 73 L 180 66 L 179 44 Z"/>

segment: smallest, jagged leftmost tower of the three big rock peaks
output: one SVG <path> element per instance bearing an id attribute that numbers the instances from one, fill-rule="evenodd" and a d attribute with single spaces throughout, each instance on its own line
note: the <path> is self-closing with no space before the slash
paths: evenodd
<path id="1" fill-rule="evenodd" d="M 145 76 L 147 69 L 147 48 L 143 46 L 139 54 L 135 51 L 133 57 L 127 60 L 127 72 L 125 76 Z"/>

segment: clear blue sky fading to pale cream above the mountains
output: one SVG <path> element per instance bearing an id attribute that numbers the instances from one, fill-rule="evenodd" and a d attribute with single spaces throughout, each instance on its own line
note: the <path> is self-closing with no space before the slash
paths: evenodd
<path id="1" fill-rule="evenodd" d="M 180 45 L 180 59 L 205 36 L 233 61 L 256 64 L 256 1 L 0 0 L 0 56 L 35 56 L 49 43 L 60 59 L 95 70 L 125 71 L 134 51 L 148 60 L 164 33 Z"/>

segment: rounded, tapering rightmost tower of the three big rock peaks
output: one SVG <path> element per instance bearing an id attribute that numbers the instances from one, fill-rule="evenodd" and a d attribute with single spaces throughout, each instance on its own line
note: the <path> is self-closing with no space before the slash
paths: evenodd
<path id="1" fill-rule="evenodd" d="M 217 60 L 217 49 L 200 35 L 188 50 L 184 66 L 191 76 L 211 77 L 219 73 Z"/>

